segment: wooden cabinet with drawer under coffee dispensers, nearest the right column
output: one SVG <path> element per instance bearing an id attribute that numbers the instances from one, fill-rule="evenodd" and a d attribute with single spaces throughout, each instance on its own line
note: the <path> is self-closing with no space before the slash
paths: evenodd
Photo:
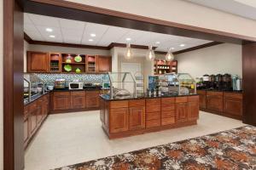
<path id="1" fill-rule="evenodd" d="M 242 116 L 242 94 L 224 93 L 224 113 Z"/>

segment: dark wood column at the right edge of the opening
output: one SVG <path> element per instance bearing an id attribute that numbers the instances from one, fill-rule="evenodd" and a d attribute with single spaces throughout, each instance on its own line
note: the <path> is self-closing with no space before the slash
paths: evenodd
<path id="1" fill-rule="evenodd" d="M 256 42 L 242 46 L 242 78 L 242 122 L 256 126 Z"/>

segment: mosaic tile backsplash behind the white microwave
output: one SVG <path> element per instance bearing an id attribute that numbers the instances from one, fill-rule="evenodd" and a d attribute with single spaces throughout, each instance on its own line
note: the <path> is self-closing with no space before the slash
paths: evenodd
<path id="1" fill-rule="evenodd" d="M 64 78 L 66 79 L 66 86 L 68 82 L 73 80 L 79 80 L 84 83 L 102 83 L 104 74 L 36 74 L 41 78 L 47 85 L 54 85 L 55 79 Z"/>

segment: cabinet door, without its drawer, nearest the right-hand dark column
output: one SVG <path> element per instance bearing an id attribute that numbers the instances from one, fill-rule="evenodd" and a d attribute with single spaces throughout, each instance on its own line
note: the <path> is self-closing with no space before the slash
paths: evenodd
<path id="1" fill-rule="evenodd" d="M 242 100 L 224 98 L 224 112 L 235 116 L 242 116 Z"/>

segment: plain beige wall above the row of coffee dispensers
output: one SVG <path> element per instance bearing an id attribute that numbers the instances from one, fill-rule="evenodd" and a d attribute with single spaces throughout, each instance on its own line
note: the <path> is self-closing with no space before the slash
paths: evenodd
<path id="1" fill-rule="evenodd" d="M 206 73 L 241 76 L 241 45 L 224 43 L 177 54 L 175 59 L 177 71 L 188 72 L 192 77 L 202 77 Z"/>

